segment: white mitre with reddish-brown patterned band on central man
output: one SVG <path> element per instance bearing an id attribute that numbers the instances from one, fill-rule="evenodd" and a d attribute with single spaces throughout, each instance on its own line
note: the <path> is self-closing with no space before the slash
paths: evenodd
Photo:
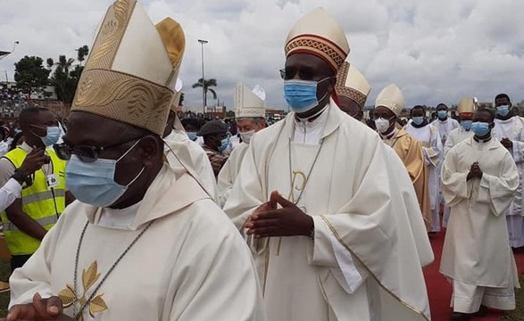
<path id="1" fill-rule="evenodd" d="M 349 45 L 338 22 L 323 8 L 304 15 L 289 31 L 286 57 L 294 53 L 309 53 L 320 57 L 337 71 L 345 62 Z"/>

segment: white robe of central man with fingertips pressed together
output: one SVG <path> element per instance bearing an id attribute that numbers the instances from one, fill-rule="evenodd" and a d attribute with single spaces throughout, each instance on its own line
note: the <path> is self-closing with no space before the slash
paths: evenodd
<path id="1" fill-rule="evenodd" d="M 410 202 L 409 208 L 404 202 L 417 200 L 410 177 L 377 133 L 348 117 L 332 100 L 326 112 L 311 177 L 306 175 L 320 145 L 291 142 L 291 112 L 252 138 L 224 207 L 242 229 L 272 191 L 289 195 L 292 170 L 306 173 L 295 177 L 293 193 L 297 197 L 296 189 L 305 185 L 297 206 L 312 216 L 314 240 L 248 238 L 262 277 L 268 319 L 428 320 L 421 265 L 428 264 L 433 253 L 418 202 Z M 398 175 L 403 179 L 396 180 Z M 399 182 L 406 188 L 398 188 Z"/>

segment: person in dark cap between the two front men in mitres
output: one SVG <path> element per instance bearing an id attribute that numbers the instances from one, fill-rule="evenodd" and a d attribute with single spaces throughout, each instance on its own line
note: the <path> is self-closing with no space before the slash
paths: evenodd
<path id="1" fill-rule="evenodd" d="M 204 152 L 211 162 L 212 171 L 215 177 L 219 176 L 220 169 L 228 161 L 228 154 L 225 152 L 229 146 L 229 128 L 222 120 L 211 120 L 204 124 L 196 133 L 197 136 L 204 137 Z"/>

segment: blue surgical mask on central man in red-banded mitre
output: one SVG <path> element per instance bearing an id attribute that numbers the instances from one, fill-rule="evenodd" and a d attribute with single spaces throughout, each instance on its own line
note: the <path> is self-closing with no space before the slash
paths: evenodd
<path id="1" fill-rule="evenodd" d="M 284 97 L 291 110 L 305 112 L 318 106 L 317 86 L 326 79 L 329 78 L 323 78 L 318 82 L 314 80 L 284 80 Z M 324 99 L 326 95 L 320 100 Z"/>

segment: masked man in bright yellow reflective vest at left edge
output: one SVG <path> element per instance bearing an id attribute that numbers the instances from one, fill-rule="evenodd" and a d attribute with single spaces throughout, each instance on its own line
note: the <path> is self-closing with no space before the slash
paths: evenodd
<path id="1" fill-rule="evenodd" d="M 1 214 L 12 270 L 20 268 L 37 251 L 44 235 L 74 200 L 71 193 L 66 192 L 65 161 L 47 148 L 60 137 L 54 113 L 46 108 L 26 108 L 21 111 L 19 122 L 25 142 L 0 159 L 0 185 L 12 177 L 35 148 L 46 151 L 48 162 L 34 172 L 24 185 L 21 197 Z"/>

